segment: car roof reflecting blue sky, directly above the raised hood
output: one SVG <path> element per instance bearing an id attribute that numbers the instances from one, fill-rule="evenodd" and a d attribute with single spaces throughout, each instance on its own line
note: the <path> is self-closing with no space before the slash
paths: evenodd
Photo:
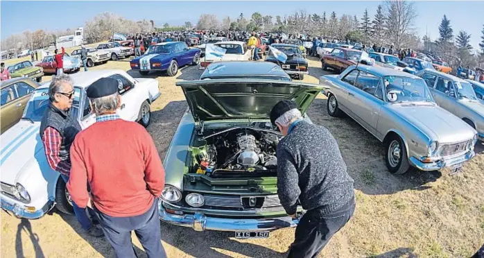
<path id="1" fill-rule="evenodd" d="M 223 69 L 221 69 L 223 67 Z M 284 76 L 288 74 L 273 62 L 255 62 L 255 61 L 226 61 L 214 62 L 209 65 L 203 72 L 200 78 L 207 78 L 210 76 L 241 76 L 241 75 L 255 75 L 255 76 Z"/>

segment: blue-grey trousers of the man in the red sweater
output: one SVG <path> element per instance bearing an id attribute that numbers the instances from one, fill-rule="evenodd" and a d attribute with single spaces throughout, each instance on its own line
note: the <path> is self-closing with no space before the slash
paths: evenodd
<path id="1" fill-rule="evenodd" d="M 139 242 L 148 257 L 166 257 L 162 246 L 162 232 L 159 228 L 158 199 L 144 214 L 131 217 L 113 217 L 96 209 L 104 235 L 110 242 L 116 257 L 137 257 L 131 242 L 131 231 L 135 230 Z"/>

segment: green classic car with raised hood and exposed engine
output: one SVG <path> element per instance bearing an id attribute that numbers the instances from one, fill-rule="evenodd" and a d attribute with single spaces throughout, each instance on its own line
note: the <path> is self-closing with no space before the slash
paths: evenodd
<path id="1" fill-rule="evenodd" d="M 286 215 L 277 196 L 276 146 L 283 136 L 269 113 L 291 99 L 311 122 L 305 112 L 324 87 L 254 78 L 176 85 L 189 110 L 164 160 L 160 219 L 196 231 L 235 232 L 236 238 L 266 238 L 295 227 L 298 219 Z"/>

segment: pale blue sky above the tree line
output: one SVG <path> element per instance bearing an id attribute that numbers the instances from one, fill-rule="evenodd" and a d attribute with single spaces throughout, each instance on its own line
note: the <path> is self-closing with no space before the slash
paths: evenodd
<path id="1" fill-rule="evenodd" d="M 13 33 L 55 30 L 83 26 L 99 12 L 115 12 L 128 19 L 153 19 L 157 26 L 165 22 L 182 25 L 184 22 L 196 24 L 202 13 L 213 13 L 222 19 L 237 17 L 241 12 L 250 17 L 259 11 L 262 15 L 291 15 L 297 10 L 308 13 L 335 11 L 338 17 L 343 14 L 356 15 L 358 19 L 368 8 L 373 18 L 381 1 L 1 1 L 1 35 L 3 39 Z M 478 47 L 484 24 L 484 1 L 417 1 L 418 17 L 414 26 L 422 37 L 428 29 L 432 40 L 438 37 L 438 26 L 443 15 L 451 20 L 454 35 L 460 30 L 472 34 L 471 44 Z M 33 11 L 37 15 L 29 15 Z"/>

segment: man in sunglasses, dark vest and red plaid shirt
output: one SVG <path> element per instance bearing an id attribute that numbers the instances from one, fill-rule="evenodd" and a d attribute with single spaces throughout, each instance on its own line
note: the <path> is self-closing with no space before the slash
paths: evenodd
<path id="1" fill-rule="evenodd" d="M 69 181 L 71 173 L 70 148 L 74 138 L 81 130 L 76 118 L 71 117 L 72 101 L 74 101 L 74 87 L 67 74 L 53 76 L 49 85 L 49 107 L 40 122 L 40 135 L 45 148 L 45 155 L 49 166 L 60 173 L 64 182 Z M 89 220 L 85 207 L 78 207 L 74 202 L 74 214 L 80 226 L 92 236 L 103 236 L 103 232 Z M 88 209 L 94 223 L 96 214 Z"/>

